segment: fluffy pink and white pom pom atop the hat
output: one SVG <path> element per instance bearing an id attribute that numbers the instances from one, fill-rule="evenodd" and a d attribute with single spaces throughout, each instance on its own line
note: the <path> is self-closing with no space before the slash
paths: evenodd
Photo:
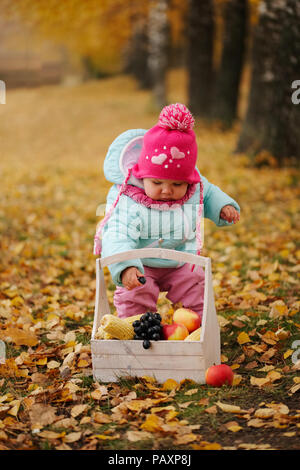
<path id="1" fill-rule="evenodd" d="M 195 120 L 188 108 L 181 103 L 165 106 L 158 119 L 158 125 L 170 130 L 188 131 L 193 129 Z"/>

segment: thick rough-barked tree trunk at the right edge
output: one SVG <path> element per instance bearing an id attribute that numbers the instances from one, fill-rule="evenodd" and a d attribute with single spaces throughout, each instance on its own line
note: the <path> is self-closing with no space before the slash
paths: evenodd
<path id="1" fill-rule="evenodd" d="M 253 44 L 248 110 L 237 152 L 300 157 L 300 113 L 292 86 L 300 71 L 299 0 L 264 0 Z"/>

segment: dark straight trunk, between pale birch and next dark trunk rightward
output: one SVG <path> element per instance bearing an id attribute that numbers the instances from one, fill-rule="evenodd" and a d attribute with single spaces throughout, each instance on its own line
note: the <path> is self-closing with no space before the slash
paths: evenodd
<path id="1" fill-rule="evenodd" d="M 209 117 L 213 84 L 214 17 L 212 0 L 189 0 L 187 69 L 189 108 Z"/>

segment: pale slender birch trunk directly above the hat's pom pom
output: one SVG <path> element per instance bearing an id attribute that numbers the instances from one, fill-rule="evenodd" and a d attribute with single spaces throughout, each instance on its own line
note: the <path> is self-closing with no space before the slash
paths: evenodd
<path id="1" fill-rule="evenodd" d="M 169 22 L 168 0 L 151 0 L 148 18 L 149 56 L 155 105 L 161 109 L 167 103 L 166 73 L 168 68 Z"/>

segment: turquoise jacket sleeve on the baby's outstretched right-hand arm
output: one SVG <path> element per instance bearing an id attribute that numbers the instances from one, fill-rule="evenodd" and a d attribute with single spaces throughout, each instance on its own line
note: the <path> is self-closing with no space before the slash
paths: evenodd
<path id="1" fill-rule="evenodd" d="M 203 182 L 203 204 L 204 217 L 212 220 L 219 227 L 223 225 L 232 225 L 233 222 L 227 222 L 220 218 L 220 212 L 224 206 L 231 205 L 238 212 L 240 206 L 228 194 L 224 193 L 218 186 L 210 183 L 204 176 L 201 176 Z"/>

